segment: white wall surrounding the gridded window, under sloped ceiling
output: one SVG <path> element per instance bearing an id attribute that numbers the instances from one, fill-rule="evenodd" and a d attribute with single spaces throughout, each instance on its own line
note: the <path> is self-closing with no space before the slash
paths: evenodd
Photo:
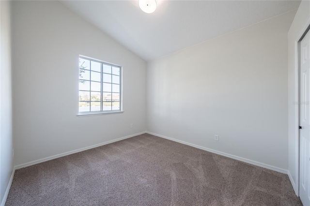
<path id="1" fill-rule="evenodd" d="M 144 60 L 59 1 L 14 1 L 12 11 L 16 165 L 145 131 Z M 76 116 L 78 55 L 123 66 L 124 113 Z"/>

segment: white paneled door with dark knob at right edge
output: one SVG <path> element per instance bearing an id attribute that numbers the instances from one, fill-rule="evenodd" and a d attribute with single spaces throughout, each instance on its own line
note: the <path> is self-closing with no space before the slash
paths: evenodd
<path id="1" fill-rule="evenodd" d="M 310 31 L 300 43 L 299 197 L 310 206 Z"/>

